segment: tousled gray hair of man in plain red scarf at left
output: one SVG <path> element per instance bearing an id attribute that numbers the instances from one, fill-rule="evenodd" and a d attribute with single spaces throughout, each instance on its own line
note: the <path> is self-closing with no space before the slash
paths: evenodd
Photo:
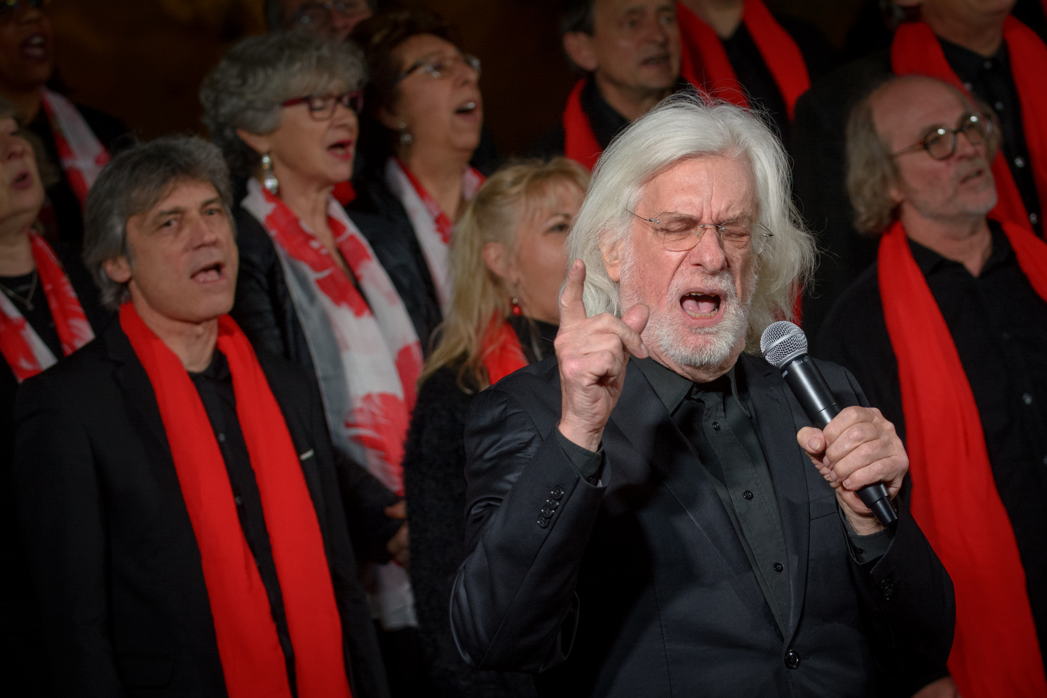
<path id="1" fill-rule="evenodd" d="M 105 263 L 126 256 L 128 219 L 160 203 L 183 181 L 206 182 L 222 199 L 231 224 L 232 187 L 222 153 L 199 136 L 169 136 L 138 143 L 103 168 L 84 206 L 84 264 L 102 291 L 102 302 L 118 308 L 128 299 L 126 284 L 106 273 Z"/>

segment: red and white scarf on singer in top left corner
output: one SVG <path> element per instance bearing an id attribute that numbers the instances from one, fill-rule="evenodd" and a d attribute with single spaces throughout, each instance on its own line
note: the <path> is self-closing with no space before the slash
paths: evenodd
<path id="1" fill-rule="evenodd" d="M 62 170 L 83 207 L 98 173 L 109 162 L 109 152 L 91 132 L 91 127 L 76 107 L 61 94 L 45 89 L 41 105 L 51 125 Z"/>

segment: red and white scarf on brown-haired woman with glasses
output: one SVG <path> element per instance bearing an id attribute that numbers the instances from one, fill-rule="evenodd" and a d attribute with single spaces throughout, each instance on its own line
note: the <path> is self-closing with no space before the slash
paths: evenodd
<path id="1" fill-rule="evenodd" d="M 473 167 L 466 167 L 462 179 L 462 195 L 466 201 L 475 196 L 486 178 Z M 407 218 L 415 228 L 418 244 L 425 255 L 437 289 L 440 308 L 446 314 L 451 302 L 451 275 L 448 249 L 454 224 L 440 207 L 414 173 L 397 158 L 389 158 L 385 164 L 385 182 L 407 211 Z"/>

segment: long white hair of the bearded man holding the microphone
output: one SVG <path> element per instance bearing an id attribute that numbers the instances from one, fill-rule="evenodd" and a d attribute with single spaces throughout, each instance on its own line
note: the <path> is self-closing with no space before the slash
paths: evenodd
<path id="1" fill-rule="evenodd" d="M 749 160 L 756 180 L 757 222 L 774 233 L 756 263 L 745 350 L 758 352 L 764 328 L 793 315 L 796 296 L 814 271 L 816 251 L 789 195 L 785 149 L 753 112 L 694 91 L 667 97 L 633 121 L 596 165 L 567 238 L 569 257 L 585 263 L 588 315 L 622 314 L 619 285 L 607 275 L 601 244 L 626 239 L 632 225 L 626 209 L 636 209 L 644 186 L 681 160 L 716 155 Z"/>

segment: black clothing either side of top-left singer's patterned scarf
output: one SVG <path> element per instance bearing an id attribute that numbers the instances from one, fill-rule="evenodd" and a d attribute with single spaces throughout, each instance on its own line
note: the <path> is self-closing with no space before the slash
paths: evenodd
<path id="1" fill-rule="evenodd" d="M 82 105 L 76 105 L 76 111 L 84 117 L 98 142 L 109 151 L 110 156 L 133 144 L 131 132 L 116 117 Z M 47 187 L 47 201 L 44 202 L 41 219 L 48 228 L 49 237 L 53 237 L 54 231 L 50 229 L 53 223 L 59 239 L 79 252 L 84 244 L 84 210 L 80 199 L 69 185 L 65 171 L 62 170 L 62 159 L 54 144 L 54 134 L 51 133 L 51 125 L 43 107 L 25 129 L 31 131 L 43 142 L 44 153 L 60 176 L 58 182 Z"/>

